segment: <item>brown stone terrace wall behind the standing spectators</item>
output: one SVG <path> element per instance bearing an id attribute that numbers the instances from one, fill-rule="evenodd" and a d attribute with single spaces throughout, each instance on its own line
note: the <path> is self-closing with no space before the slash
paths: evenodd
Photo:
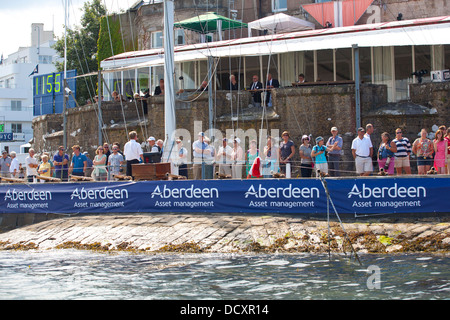
<path id="1" fill-rule="evenodd" d="M 413 84 L 410 86 L 411 100 L 388 103 L 387 89 L 383 85 L 361 86 L 361 125 L 372 123 L 375 133 L 372 136 L 374 149 L 378 149 L 381 133 L 386 131 L 394 137 L 394 130 L 400 127 L 404 136 L 414 141 L 421 128 L 430 132 L 433 125 L 448 125 L 450 101 L 449 83 Z M 217 91 L 213 96 L 215 127 L 226 136 L 230 130 L 242 130 L 245 147 L 248 147 L 248 130 L 253 129 L 259 135 L 260 129 L 268 129 L 268 134 L 278 136 L 284 130 L 291 134 L 296 145 L 294 161 L 299 161 L 298 147 L 301 136 L 311 134 L 328 139 L 330 128 L 338 127 L 344 139 L 344 170 L 353 172 L 351 142 L 356 135 L 355 86 L 305 86 L 301 88 L 280 88 L 273 91 L 273 108 L 263 114 L 262 108 L 249 108 L 250 94 Z M 139 115 L 139 116 L 138 116 Z M 123 105 L 104 102 L 102 104 L 103 141 L 127 142 L 127 132 L 136 130 L 141 142 L 148 136 L 164 140 L 164 97 L 148 99 L 148 114 L 143 115 L 142 108 L 134 102 Z M 186 129 L 183 134 L 184 145 L 190 151 L 198 131 L 209 127 L 208 93 L 199 95 L 187 93 L 178 97 L 176 103 L 177 128 Z M 126 120 L 126 125 L 124 122 Z M 447 123 L 446 123 L 447 122 Z M 57 150 L 62 144 L 62 116 L 47 115 L 33 120 L 35 132 L 34 148 L 37 152 Z M 91 156 L 98 146 L 98 109 L 96 106 L 84 106 L 68 110 L 67 141 L 69 148 L 79 144 L 83 151 Z M 228 130 L 228 131 L 227 131 Z M 265 143 L 263 132 L 262 142 Z M 182 134 L 182 133 L 181 133 Z M 238 135 L 239 136 L 239 135 Z M 259 138 L 259 136 L 258 136 Z M 260 145 L 260 149 L 264 144 Z M 413 166 L 414 167 L 414 166 Z M 413 168 L 415 169 L 415 168 Z M 413 170 L 414 172 L 414 170 Z"/>

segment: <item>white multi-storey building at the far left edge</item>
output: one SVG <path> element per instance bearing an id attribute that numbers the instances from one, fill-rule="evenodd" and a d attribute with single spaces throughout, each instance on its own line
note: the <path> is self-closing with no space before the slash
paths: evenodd
<path id="1" fill-rule="evenodd" d="M 53 31 L 44 31 L 43 23 L 31 25 L 31 46 L 19 48 L 0 63 L 0 131 L 14 133 L 13 141 L 0 141 L 0 150 L 17 153 L 33 139 L 33 77 L 56 71 L 59 59 Z M 33 73 L 38 66 L 38 73 Z"/>

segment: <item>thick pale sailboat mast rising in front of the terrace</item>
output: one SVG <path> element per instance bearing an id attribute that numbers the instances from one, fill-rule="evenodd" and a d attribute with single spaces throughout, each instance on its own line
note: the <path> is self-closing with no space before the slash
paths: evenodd
<path id="1" fill-rule="evenodd" d="M 164 0 L 164 114 L 166 146 L 171 148 L 176 129 L 175 118 L 175 63 L 174 63 L 174 2 Z"/>

